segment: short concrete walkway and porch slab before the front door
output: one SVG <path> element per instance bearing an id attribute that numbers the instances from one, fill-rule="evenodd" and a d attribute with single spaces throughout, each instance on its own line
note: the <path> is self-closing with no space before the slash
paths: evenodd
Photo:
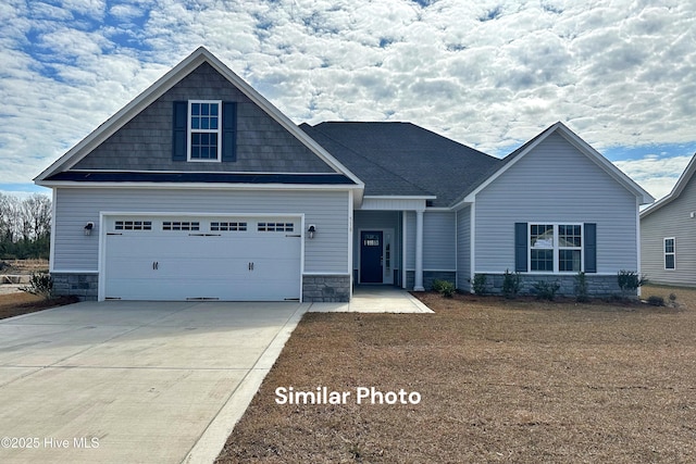
<path id="1" fill-rule="evenodd" d="M 418 298 L 390 286 L 357 286 L 348 303 L 311 303 L 310 313 L 432 313 Z"/>

